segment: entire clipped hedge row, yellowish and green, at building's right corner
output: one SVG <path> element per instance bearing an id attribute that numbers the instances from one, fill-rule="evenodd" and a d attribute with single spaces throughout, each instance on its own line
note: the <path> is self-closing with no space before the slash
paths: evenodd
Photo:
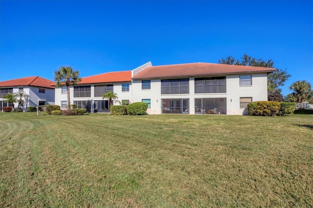
<path id="1" fill-rule="evenodd" d="M 295 103 L 257 101 L 248 104 L 250 116 L 289 116 L 293 114 Z"/>

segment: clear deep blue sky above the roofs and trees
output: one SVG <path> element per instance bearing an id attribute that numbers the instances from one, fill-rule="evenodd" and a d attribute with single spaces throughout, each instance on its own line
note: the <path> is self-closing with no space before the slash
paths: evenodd
<path id="1" fill-rule="evenodd" d="M 313 1 L 0 1 L 0 81 L 245 53 L 287 68 L 284 95 L 298 80 L 313 84 Z"/>

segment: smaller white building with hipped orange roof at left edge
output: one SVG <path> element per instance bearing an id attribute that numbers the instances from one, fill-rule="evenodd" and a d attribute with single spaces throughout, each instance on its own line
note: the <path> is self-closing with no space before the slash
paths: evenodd
<path id="1" fill-rule="evenodd" d="M 28 99 L 23 102 L 24 110 L 27 106 L 54 104 L 55 95 L 52 83 L 54 82 L 38 76 L 0 82 L 0 112 L 2 107 L 10 106 L 9 103 L 3 101 L 3 96 L 14 92 L 25 92 L 29 95 Z M 18 103 L 15 104 L 17 105 Z"/>

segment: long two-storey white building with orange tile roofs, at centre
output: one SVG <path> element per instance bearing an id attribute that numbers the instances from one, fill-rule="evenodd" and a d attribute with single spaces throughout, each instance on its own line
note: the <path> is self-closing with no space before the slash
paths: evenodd
<path id="1" fill-rule="evenodd" d="M 122 103 L 144 102 L 148 114 L 245 115 L 246 105 L 267 100 L 267 75 L 273 68 L 185 63 L 109 72 L 70 86 L 71 104 L 89 112 L 109 112 L 102 94 L 113 91 Z M 56 87 L 55 102 L 66 107 L 66 87 Z"/>

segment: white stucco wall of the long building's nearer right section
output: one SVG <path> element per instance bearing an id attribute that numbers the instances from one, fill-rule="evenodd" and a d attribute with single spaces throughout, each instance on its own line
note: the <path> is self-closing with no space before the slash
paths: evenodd
<path id="1" fill-rule="evenodd" d="M 148 114 L 161 114 L 161 99 L 189 99 L 189 114 L 195 114 L 195 98 L 226 98 L 227 115 L 246 115 L 240 108 L 241 97 L 252 97 L 252 101 L 267 101 L 267 73 L 251 74 L 252 85 L 240 86 L 239 74 L 226 76 L 226 93 L 195 94 L 195 79 L 189 78 L 189 94 L 161 95 L 161 79 L 151 80 L 151 89 L 141 89 L 142 80 L 133 80 L 132 101 L 150 99 Z"/>

